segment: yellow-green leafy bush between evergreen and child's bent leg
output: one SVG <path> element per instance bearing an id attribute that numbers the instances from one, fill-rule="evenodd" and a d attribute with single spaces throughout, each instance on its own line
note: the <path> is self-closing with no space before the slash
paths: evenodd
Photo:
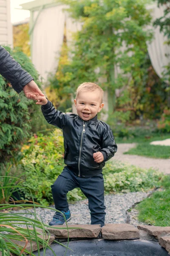
<path id="1" fill-rule="evenodd" d="M 50 135 L 34 135 L 24 145 L 23 159 L 21 160 L 25 172 L 23 186 L 31 189 L 37 202 L 44 205 L 52 203 L 51 184 L 62 172 L 63 137 L 62 131 L 56 129 Z M 30 199 L 28 189 L 24 190 L 26 199 Z"/>

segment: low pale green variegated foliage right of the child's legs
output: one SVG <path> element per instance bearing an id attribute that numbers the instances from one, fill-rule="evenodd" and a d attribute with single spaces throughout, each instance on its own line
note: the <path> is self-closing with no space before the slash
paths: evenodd
<path id="1" fill-rule="evenodd" d="M 159 187 L 163 174 L 128 163 L 108 162 L 103 168 L 105 192 L 135 192 Z"/>

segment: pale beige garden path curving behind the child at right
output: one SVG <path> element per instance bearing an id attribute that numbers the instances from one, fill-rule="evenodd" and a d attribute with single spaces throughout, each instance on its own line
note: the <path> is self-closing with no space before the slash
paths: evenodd
<path id="1" fill-rule="evenodd" d="M 154 169 L 159 169 L 159 171 L 163 172 L 164 174 L 170 174 L 170 159 L 156 159 L 150 157 L 141 157 L 138 155 L 123 154 L 130 148 L 134 148 L 135 145 L 135 143 L 118 144 L 118 151 L 112 159 L 127 162 L 141 168 L 149 169 L 152 167 Z"/>

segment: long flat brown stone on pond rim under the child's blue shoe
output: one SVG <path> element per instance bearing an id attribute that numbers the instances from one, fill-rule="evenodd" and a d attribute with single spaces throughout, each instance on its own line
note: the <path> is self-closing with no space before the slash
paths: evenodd
<path id="1" fill-rule="evenodd" d="M 53 228 L 55 227 L 55 228 Z M 57 229 L 56 229 L 57 227 Z M 96 238 L 99 236 L 101 231 L 100 225 L 68 225 L 68 230 L 66 225 L 54 225 L 49 227 L 48 230 L 51 234 L 53 234 L 56 238 Z"/>

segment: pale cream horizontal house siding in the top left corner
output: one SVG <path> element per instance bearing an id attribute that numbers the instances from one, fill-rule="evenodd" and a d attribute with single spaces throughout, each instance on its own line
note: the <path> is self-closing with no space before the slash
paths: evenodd
<path id="1" fill-rule="evenodd" d="M 0 45 L 13 45 L 10 0 L 0 0 Z"/>

